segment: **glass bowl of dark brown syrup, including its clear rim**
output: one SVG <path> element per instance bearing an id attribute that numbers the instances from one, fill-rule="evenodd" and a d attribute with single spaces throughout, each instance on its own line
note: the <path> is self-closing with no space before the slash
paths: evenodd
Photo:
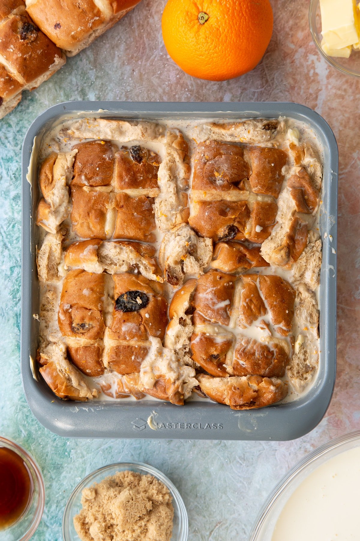
<path id="1" fill-rule="evenodd" d="M 15 441 L 0 436 L 0 539 L 31 539 L 44 503 L 44 480 L 36 461 Z"/>

